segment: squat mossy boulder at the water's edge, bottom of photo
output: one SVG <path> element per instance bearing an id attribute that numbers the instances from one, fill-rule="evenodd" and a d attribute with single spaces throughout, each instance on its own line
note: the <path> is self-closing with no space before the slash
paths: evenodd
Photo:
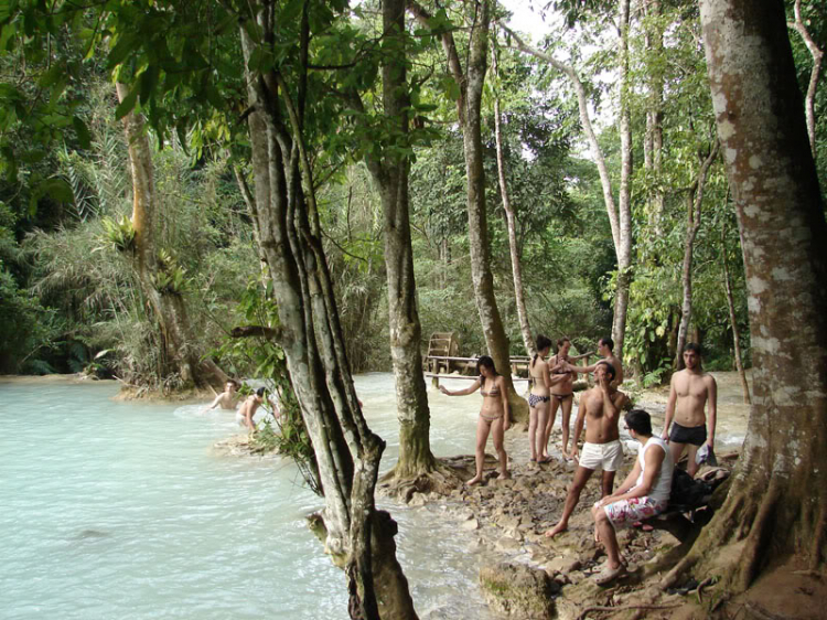
<path id="1" fill-rule="evenodd" d="M 501 563 L 480 569 L 483 596 L 497 612 L 526 620 L 554 618 L 557 584 L 545 570 Z"/>

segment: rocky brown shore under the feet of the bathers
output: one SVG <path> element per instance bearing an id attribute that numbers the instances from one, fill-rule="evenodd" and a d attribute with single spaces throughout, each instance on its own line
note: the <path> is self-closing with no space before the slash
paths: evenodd
<path id="1" fill-rule="evenodd" d="M 560 431 L 555 430 L 551 443 L 559 442 Z M 630 448 L 625 449 L 615 487 L 634 467 L 636 450 Z M 576 464 L 561 458 L 545 464 L 530 462 L 527 434 L 519 425 L 506 435 L 506 450 L 511 479 L 497 480 L 496 460 L 486 455 L 481 484 L 462 485 L 448 495 L 414 493 L 408 502 L 409 506 L 441 514 L 469 535 L 469 552 L 480 558 L 483 596 L 495 613 L 504 618 L 576 619 L 587 608 L 632 601 L 645 608 L 647 617 L 657 617 L 660 607 L 666 606 L 662 611 L 669 617 L 669 610 L 686 602 L 681 592 L 655 592 L 641 586 L 657 560 L 680 544 L 663 530 L 620 531 L 617 538 L 630 576 L 609 588 L 597 586 L 591 576 L 602 569 L 605 554 L 594 542 L 589 509 L 600 499 L 599 473 L 583 490 L 569 530 L 547 538 L 545 532 L 562 512 Z M 473 475 L 473 456 L 440 461 L 465 480 Z"/>

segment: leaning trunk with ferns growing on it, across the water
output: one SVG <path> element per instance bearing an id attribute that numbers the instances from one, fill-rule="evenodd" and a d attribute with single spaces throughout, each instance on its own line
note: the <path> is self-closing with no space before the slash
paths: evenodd
<path id="1" fill-rule="evenodd" d="M 127 85 L 116 84 L 118 100 L 129 94 Z M 222 385 L 225 375 L 212 361 L 200 362 L 200 352 L 193 346 L 190 321 L 182 291 L 169 286 L 159 287 L 159 276 L 174 264 L 159 260 L 157 239 L 158 196 L 143 117 L 135 111 L 123 117 L 128 141 L 129 164 L 132 177 L 132 228 L 135 229 L 135 269 L 141 290 L 158 322 L 162 340 L 162 376 L 179 374 L 184 385 L 206 387 L 210 383 Z"/>

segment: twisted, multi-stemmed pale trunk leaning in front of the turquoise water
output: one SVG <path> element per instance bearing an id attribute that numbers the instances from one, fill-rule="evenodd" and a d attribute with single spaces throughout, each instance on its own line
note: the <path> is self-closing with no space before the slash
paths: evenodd
<path id="1" fill-rule="evenodd" d="M 393 549 L 395 534 L 389 524 L 374 527 L 382 514 L 375 507 L 374 489 L 385 442 L 367 427 L 358 405 L 322 249 L 304 143 L 308 6 L 299 24 L 302 66 L 290 82 L 276 70 L 249 68 L 257 44 L 272 53 L 275 29 L 271 3 L 249 7 L 248 19 L 262 33 L 256 43 L 240 24 L 249 104 L 255 109 L 248 124 L 259 243 L 270 268 L 288 370 L 319 464 L 325 550 L 344 566 L 351 617 L 412 619 L 416 612 L 396 557 L 375 562 L 376 549 Z M 384 600 L 379 592 L 389 584 L 397 588 L 387 592 L 396 596 Z"/>

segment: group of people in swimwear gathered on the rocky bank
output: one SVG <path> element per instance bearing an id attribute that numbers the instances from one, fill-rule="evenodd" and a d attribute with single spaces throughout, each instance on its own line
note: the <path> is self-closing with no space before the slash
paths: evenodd
<path id="1" fill-rule="evenodd" d="M 562 416 L 562 458 L 578 464 L 560 520 L 546 532 L 546 536 L 554 537 L 568 528 L 586 483 L 592 473 L 602 470 L 601 500 L 593 505 L 592 516 L 595 541 L 605 546 L 608 555 L 606 565 L 597 581 L 609 584 L 625 571 L 615 528 L 641 522 L 666 509 L 674 463 L 685 451 L 688 457 L 687 470 L 691 475 L 699 467 L 700 459 L 696 458 L 699 449 L 702 449 L 700 455 L 705 458 L 713 458 L 717 385 L 715 378 L 702 370 L 700 346 L 687 344 L 683 352 L 685 368 L 672 377 L 663 434 L 656 436 L 653 432 L 652 419 L 645 410 L 633 409 L 625 415 L 625 429 L 641 446 L 634 468 L 620 488 L 613 491 L 615 473 L 623 462 L 619 428 L 621 411 L 629 405 L 627 396 L 619 389 L 623 383 L 623 366 L 613 353 L 614 343 L 610 338 L 598 342 L 602 359 L 591 366 L 574 365 L 583 355 L 569 356 L 570 348 L 571 341 L 562 338 L 557 341 L 557 353 L 548 357 L 551 341 L 544 335 L 537 338 L 537 353 L 528 367 L 531 381 L 528 396 L 529 458 L 537 463 L 551 460 L 548 440 L 559 408 Z M 509 426 L 507 386 L 487 355 L 477 360 L 477 371 L 480 377 L 465 389 L 451 392 L 440 386 L 442 393 L 449 396 L 472 394 L 477 389 L 483 396 L 476 427 L 476 472 L 468 484 L 482 481 L 488 435 L 493 436 L 500 461 L 497 478 L 508 478 L 508 457 L 503 447 L 503 435 Z M 580 397 L 569 447 L 573 383 L 578 373 L 594 373 L 595 385 Z M 583 427 L 586 441 L 582 450 L 579 450 Z"/>

